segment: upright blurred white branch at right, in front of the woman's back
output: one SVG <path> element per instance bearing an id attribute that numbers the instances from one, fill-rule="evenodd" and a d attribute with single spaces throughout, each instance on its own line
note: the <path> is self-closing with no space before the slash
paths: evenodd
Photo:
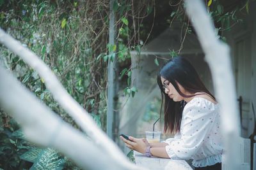
<path id="1" fill-rule="evenodd" d="M 214 25 L 207 15 L 201 0 L 184 0 L 186 11 L 195 27 L 205 60 L 211 69 L 216 98 L 221 105 L 221 130 L 225 143 L 225 164 L 237 169 L 237 137 L 240 135 L 239 113 L 236 103 L 236 89 L 229 48 L 216 38 Z"/>

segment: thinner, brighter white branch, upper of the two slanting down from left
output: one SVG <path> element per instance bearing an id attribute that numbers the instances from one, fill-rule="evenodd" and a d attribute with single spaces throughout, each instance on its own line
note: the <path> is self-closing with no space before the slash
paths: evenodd
<path id="1" fill-rule="evenodd" d="M 3 29 L 0 29 L 0 42 L 3 43 L 9 50 L 19 55 L 25 62 L 29 64 L 29 66 L 33 67 L 33 69 L 38 72 L 41 78 L 44 78 L 45 85 L 52 93 L 54 99 L 56 99 L 64 110 L 67 111 L 72 118 L 74 118 L 77 124 L 81 126 L 81 129 L 83 129 L 83 131 L 86 132 L 90 138 L 92 138 L 93 142 L 99 147 L 99 149 L 106 154 L 105 157 L 107 156 L 109 159 L 113 159 L 112 162 L 115 162 L 115 164 L 120 164 L 122 167 L 139 169 L 134 164 L 131 164 L 118 146 L 115 145 L 115 143 L 113 143 L 113 141 L 111 141 L 111 139 L 109 139 L 108 136 L 106 136 L 106 134 L 99 129 L 99 127 L 97 127 L 87 111 L 83 110 L 79 103 L 77 103 L 67 93 L 55 74 L 52 73 L 51 69 L 49 69 L 49 67 L 44 64 L 44 62 L 42 62 L 42 60 L 40 60 L 35 53 L 22 46 L 19 41 L 6 34 Z M 28 120 L 24 121 L 34 121 L 33 119 L 30 120 L 29 117 L 24 117 L 24 115 L 22 115 L 22 117 L 23 119 L 28 118 Z M 22 119 L 22 117 L 19 117 L 19 119 Z M 56 121 L 52 120 L 52 122 L 52 124 L 57 124 Z M 37 122 L 34 122 L 34 124 L 37 124 Z"/>

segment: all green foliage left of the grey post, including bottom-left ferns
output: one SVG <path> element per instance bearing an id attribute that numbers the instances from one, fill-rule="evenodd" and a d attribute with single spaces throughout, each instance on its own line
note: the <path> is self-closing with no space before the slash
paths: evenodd
<path id="1" fill-rule="evenodd" d="M 22 45 L 36 53 L 58 76 L 63 87 L 97 122 L 106 129 L 106 64 L 97 56 L 108 52 L 108 2 L 83 1 L 0 1 L 0 25 Z M 106 16 L 99 20 L 98 17 Z M 99 29 L 101 28 L 101 29 Z M 115 47 L 115 46 L 114 46 Z M 115 47 L 116 48 L 116 47 Z M 113 51 L 115 49 L 111 48 Z M 5 67 L 63 120 L 77 127 L 74 120 L 53 99 L 38 76 L 17 55 L 2 46 Z M 23 139 L 19 126 L 0 111 L 0 167 L 4 169 L 74 169 L 56 152 L 36 148 Z M 7 121 L 8 120 L 8 121 Z M 12 120 L 12 122 L 14 122 Z M 77 127 L 78 128 L 78 127 Z M 31 148 L 31 146 L 33 146 Z M 42 150 L 40 152 L 40 150 Z M 66 164 L 64 164 L 66 162 Z"/>

